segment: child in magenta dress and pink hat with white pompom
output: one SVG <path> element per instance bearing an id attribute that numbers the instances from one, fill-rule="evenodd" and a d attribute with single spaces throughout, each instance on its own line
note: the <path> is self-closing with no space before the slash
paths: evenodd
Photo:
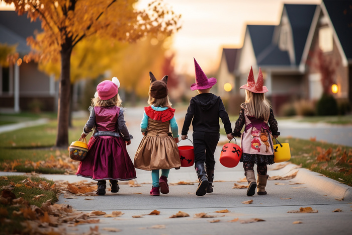
<path id="1" fill-rule="evenodd" d="M 118 95 L 120 82 L 103 81 L 97 86 L 95 98 L 90 107 L 91 115 L 84 125 L 81 137 L 84 138 L 95 128 L 88 143 L 89 151 L 79 163 L 76 175 L 98 181 L 98 195 L 105 195 L 106 180 L 110 180 L 111 192 L 119 191 L 118 180 L 136 178 L 136 171 L 128 155 L 126 145 L 132 136 L 125 124 L 122 103 Z"/>

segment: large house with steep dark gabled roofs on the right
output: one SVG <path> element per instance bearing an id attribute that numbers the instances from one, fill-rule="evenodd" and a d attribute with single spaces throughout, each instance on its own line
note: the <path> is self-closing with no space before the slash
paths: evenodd
<path id="1" fill-rule="evenodd" d="M 334 97 L 352 104 L 350 5 L 347 0 L 285 4 L 279 25 L 247 25 L 240 55 L 236 55 L 234 76 L 239 83 L 234 89 L 246 84 L 253 66 L 254 74 L 259 67 L 263 72 L 274 110 L 297 99 L 318 100 L 323 92 L 322 71 L 313 64 L 318 61 L 315 52 L 319 48 L 324 59 L 334 61 L 333 83 L 338 87 Z M 240 94 L 244 96 L 244 91 Z"/>

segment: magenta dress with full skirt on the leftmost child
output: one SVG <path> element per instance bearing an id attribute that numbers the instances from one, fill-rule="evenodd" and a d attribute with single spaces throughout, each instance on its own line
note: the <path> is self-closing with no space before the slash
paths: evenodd
<path id="1" fill-rule="evenodd" d="M 94 107 L 94 112 L 96 131 L 118 131 L 120 107 Z M 129 133 L 123 134 L 129 136 Z M 121 136 L 94 137 L 92 135 L 88 148 L 85 159 L 79 163 L 77 176 L 94 180 L 136 178 L 136 171 Z"/>

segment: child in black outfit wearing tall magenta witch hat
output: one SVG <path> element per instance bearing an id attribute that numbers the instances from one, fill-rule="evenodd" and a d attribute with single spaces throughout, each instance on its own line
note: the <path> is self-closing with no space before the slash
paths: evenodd
<path id="1" fill-rule="evenodd" d="M 182 139 L 186 139 L 189 127 L 193 125 L 193 144 L 195 155 L 195 169 L 199 179 L 197 196 L 213 192 L 215 160 L 214 152 L 220 138 L 219 117 L 224 123 L 228 139 L 232 139 L 231 122 L 220 97 L 210 93 L 216 84 L 216 79 L 208 77 L 194 59 L 196 70 L 196 83 L 191 90 L 197 90 L 199 95 L 192 97 L 187 109 Z M 204 169 L 204 163 L 205 168 Z"/>

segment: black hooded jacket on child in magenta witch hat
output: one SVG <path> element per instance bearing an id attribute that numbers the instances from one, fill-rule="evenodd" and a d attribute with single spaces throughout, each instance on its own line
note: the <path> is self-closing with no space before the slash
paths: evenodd
<path id="1" fill-rule="evenodd" d="M 203 93 L 192 97 L 181 134 L 187 135 L 192 119 L 193 131 L 220 132 L 219 117 L 226 134 L 231 133 L 231 122 L 219 96 Z"/>

